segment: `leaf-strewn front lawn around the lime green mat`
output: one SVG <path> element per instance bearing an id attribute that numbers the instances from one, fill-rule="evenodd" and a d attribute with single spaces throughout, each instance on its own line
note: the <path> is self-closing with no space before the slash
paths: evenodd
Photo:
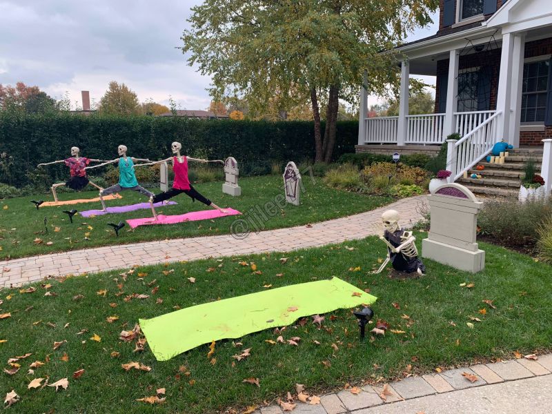
<path id="1" fill-rule="evenodd" d="M 420 234 L 419 234 L 420 235 Z M 419 242 L 422 237 L 419 237 Z M 12 317 L 0 319 L 0 359 L 24 353 L 33 355 L 22 359 L 21 369 L 15 375 L 2 373 L 0 394 L 12 388 L 21 395 L 21 402 L 12 406 L 13 413 L 213 413 L 228 407 L 244 408 L 261 404 L 294 392 L 295 383 L 305 384 L 309 393 L 339 389 L 348 382 L 358 385 L 383 377 L 385 381 L 402 377 L 406 366 L 411 373 L 433 371 L 455 364 L 470 364 L 489 358 L 512 357 L 513 351 L 533 353 L 550 350 L 552 338 L 552 282 L 551 267 L 534 262 L 530 257 L 504 248 L 480 244 L 486 250 L 486 268 L 471 275 L 426 260 L 427 275 L 422 279 L 397 281 L 386 272 L 371 275 L 377 259 L 384 257 L 384 244 L 375 237 L 337 246 L 298 250 L 293 253 L 255 255 L 197 262 L 136 268 L 126 282 L 119 272 L 71 277 L 63 282 L 52 281 L 50 291 L 55 297 L 44 297 L 46 290 L 39 284 L 34 293 L 19 293 L 17 289 L 0 292 L 3 304 L 0 313 L 11 312 Z M 353 247 L 354 250 L 345 248 Z M 285 264 L 279 259 L 289 257 Z M 240 261 L 255 262 L 261 275 L 253 273 Z M 349 268 L 360 266 L 360 271 Z M 214 271 L 206 271 L 215 268 Z M 164 275 L 163 270 L 173 273 Z M 139 273 L 148 273 L 146 276 Z M 283 273 L 282 276 L 277 274 Z M 232 340 L 217 342 L 217 362 L 210 364 L 206 357 L 208 346 L 199 346 L 168 362 L 156 362 L 148 346 L 143 353 L 133 353 L 135 345 L 119 341 L 121 330 L 130 330 L 139 318 L 150 318 L 217 298 L 225 299 L 263 290 L 265 284 L 273 288 L 311 282 L 332 276 L 340 277 L 360 288 L 368 288 L 378 297 L 374 304 L 376 319 L 384 319 L 391 329 L 406 331 L 395 334 L 388 331 L 375 341 L 359 342 L 358 328 L 351 310 L 337 310 L 326 315 L 324 326 L 317 329 L 309 322 L 304 326 L 289 326 L 286 339 L 301 337 L 299 346 L 268 344 L 275 340 L 272 330 L 246 335 L 236 339 L 243 346 L 233 346 Z M 195 277 L 195 284 L 188 282 Z M 155 284 L 147 285 L 157 279 Z M 473 288 L 460 284 L 473 283 Z M 122 284 L 119 295 L 117 284 Z M 153 286 L 159 286 L 152 295 Z M 106 297 L 97 295 L 108 290 Z M 125 302 L 125 295 L 147 293 L 148 299 Z M 10 300 L 6 297 L 12 295 Z M 75 295 L 84 295 L 79 302 Z M 156 299 L 162 298 L 162 304 Z M 493 300 L 495 309 L 482 302 Z M 110 303 L 117 304 L 111 308 Z M 399 304 L 396 309 L 393 303 Z M 29 306 L 32 309 L 27 310 Z M 478 311 L 486 309 L 486 315 Z M 414 323 L 408 327 L 402 315 Z M 106 317 L 119 316 L 109 324 Z M 224 320 L 224 315 L 220 315 Z M 471 317 L 479 317 L 474 322 Z M 33 324 L 33 322 L 39 322 Z M 48 326 L 52 322 L 55 327 Z M 469 328 L 466 323 L 474 324 Z M 64 328 L 69 324 L 67 328 Z M 373 326 L 373 325 L 372 325 Z M 82 329 L 84 335 L 77 335 Z M 90 340 L 93 334 L 101 342 Z M 170 335 L 170 332 L 167 332 Z M 67 340 L 57 351 L 53 342 Z M 316 345 L 314 340 L 320 342 Z M 85 341 L 81 343 L 81 341 Z M 331 344 L 337 344 L 334 351 Z M 232 355 L 244 348 L 252 348 L 250 357 L 235 362 Z M 111 357 L 117 351 L 119 357 Z M 63 353 L 68 362 L 60 360 Z M 27 375 L 35 360 L 50 362 Z M 150 372 L 126 372 L 121 364 L 137 361 L 151 366 Z M 330 362 L 325 368 L 323 361 Z M 235 366 L 232 363 L 235 362 Z M 186 366 L 190 376 L 176 377 L 179 366 Z M 6 368 L 9 368 L 6 366 Z M 72 373 L 84 368 L 85 373 L 72 379 Z M 69 378 L 66 391 L 45 387 L 28 390 L 34 377 L 50 378 L 50 384 L 63 377 Z M 257 377 L 260 388 L 243 384 L 242 380 Z M 195 380 L 190 386 L 189 380 Z M 161 406 L 148 406 L 138 398 L 154 395 L 157 388 L 166 388 L 167 400 Z"/>

